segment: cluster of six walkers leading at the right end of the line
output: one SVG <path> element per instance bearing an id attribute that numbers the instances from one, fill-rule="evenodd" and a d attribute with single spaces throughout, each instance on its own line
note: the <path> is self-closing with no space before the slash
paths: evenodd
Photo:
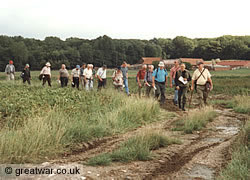
<path id="1" fill-rule="evenodd" d="M 203 62 L 197 62 L 198 68 L 193 75 L 186 69 L 186 65 L 180 61 L 175 61 L 175 65 L 170 69 L 170 88 L 174 90 L 174 105 L 181 110 L 186 111 L 187 92 L 190 88 L 191 93 L 197 90 L 199 107 L 207 104 L 208 93 L 213 89 L 211 74 L 208 69 L 204 68 Z M 159 62 L 158 67 L 154 69 L 153 65 L 142 65 L 136 76 L 138 84 L 138 94 L 141 96 L 142 88 L 145 87 L 146 95 L 150 95 L 150 91 L 155 91 L 155 98 L 160 97 L 160 103 L 165 103 L 165 89 L 168 84 L 168 72 L 164 68 L 163 62 Z"/>

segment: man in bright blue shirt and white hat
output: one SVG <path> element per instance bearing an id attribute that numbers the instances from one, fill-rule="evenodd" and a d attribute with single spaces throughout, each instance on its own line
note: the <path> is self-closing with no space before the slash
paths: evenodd
<path id="1" fill-rule="evenodd" d="M 168 72 L 166 69 L 164 69 L 164 62 L 160 62 L 159 67 L 156 68 L 153 72 L 152 77 L 152 86 L 155 88 L 155 98 L 158 99 L 158 97 L 161 94 L 161 100 L 160 104 L 165 103 L 165 89 L 167 87 L 167 79 L 168 79 Z"/>

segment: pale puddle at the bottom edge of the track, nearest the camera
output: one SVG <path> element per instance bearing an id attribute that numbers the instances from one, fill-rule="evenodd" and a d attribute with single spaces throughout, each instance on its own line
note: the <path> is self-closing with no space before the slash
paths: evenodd
<path id="1" fill-rule="evenodd" d="M 215 171 L 206 165 L 195 164 L 191 170 L 187 172 L 190 178 L 214 179 Z"/>

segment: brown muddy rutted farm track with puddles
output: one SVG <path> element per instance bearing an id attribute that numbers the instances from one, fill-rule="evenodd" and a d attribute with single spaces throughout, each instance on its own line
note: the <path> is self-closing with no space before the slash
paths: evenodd
<path id="1" fill-rule="evenodd" d="M 223 97 L 221 95 L 213 98 L 223 99 Z M 71 154 L 37 165 L 53 169 L 78 167 L 80 174 L 21 175 L 18 179 L 215 179 L 230 160 L 230 147 L 247 116 L 237 114 L 232 109 L 216 107 L 218 116 L 209 122 L 206 128 L 193 134 L 184 134 L 171 129 L 174 126 L 173 122 L 188 112 L 180 111 L 173 105 L 170 97 L 168 99 L 161 107 L 176 112 L 175 118 L 162 119 L 124 134 L 79 144 Z M 196 106 L 195 100 L 192 106 Z M 121 142 L 148 129 L 162 130 L 166 135 L 180 139 L 182 144 L 153 151 L 154 157 L 150 161 L 112 163 L 110 166 L 97 167 L 84 165 L 89 158 L 103 152 L 111 152 L 118 148 Z M 25 167 L 34 165 L 27 164 Z"/>

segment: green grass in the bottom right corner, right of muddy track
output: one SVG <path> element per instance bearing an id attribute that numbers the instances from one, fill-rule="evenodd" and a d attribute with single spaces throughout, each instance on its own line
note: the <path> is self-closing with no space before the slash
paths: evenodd
<path id="1" fill-rule="evenodd" d="M 250 179 L 250 120 L 233 147 L 232 159 L 218 176 L 218 180 Z"/>

